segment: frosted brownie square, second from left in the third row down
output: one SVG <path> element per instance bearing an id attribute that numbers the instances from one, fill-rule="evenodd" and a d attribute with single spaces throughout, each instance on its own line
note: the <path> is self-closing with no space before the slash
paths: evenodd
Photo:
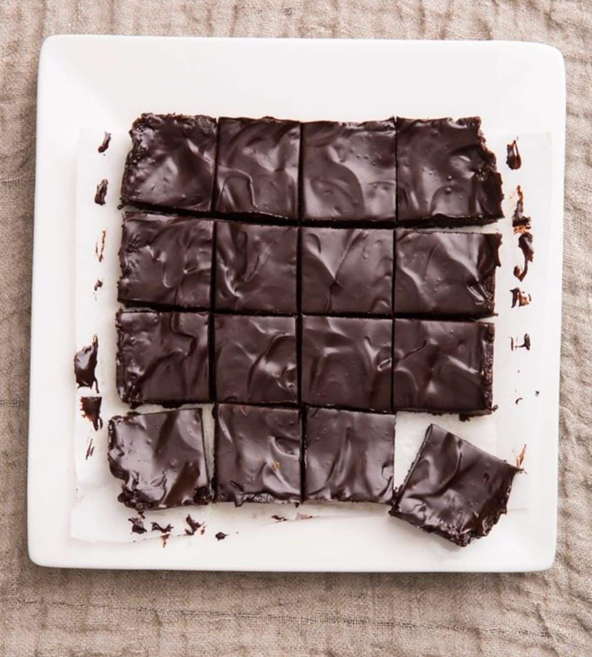
<path id="1" fill-rule="evenodd" d="M 216 400 L 296 403 L 296 319 L 216 315 Z"/>

